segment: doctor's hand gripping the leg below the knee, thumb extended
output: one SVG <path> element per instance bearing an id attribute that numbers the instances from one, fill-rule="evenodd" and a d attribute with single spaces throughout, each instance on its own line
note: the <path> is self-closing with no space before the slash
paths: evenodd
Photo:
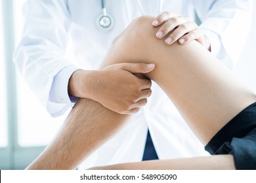
<path id="1" fill-rule="evenodd" d="M 152 82 L 134 74 L 149 73 L 154 64 L 117 63 L 100 71 L 78 70 L 70 78 L 69 93 L 98 101 L 119 114 L 133 114 L 147 102 Z"/>

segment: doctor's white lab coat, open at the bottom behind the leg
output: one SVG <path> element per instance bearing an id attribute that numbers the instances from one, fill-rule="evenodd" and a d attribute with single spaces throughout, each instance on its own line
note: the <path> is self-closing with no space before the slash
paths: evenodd
<path id="1" fill-rule="evenodd" d="M 100 0 L 28 1 L 24 7 L 26 25 L 14 52 L 14 62 L 49 113 L 60 116 L 74 104 L 67 92 L 72 73 L 77 69 L 98 69 L 114 39 L 143 12 L 157 16 L 159 2 L 106 0 L 107 12 L 115 23 L 111 31 L 104 32 L 95 25 L 96 16 L 102 13 Z M 249 32 L 251 3 L 249 0 L 163 0 L 160 10 L 177 12 L 192 20 L 196 10 L 203 22 L 200 27 L 211 41 L 211 52 L 232 68 Z M 64 57 L 69 38 L 75 60 Z M 160 159 L 208 155 L 165 93 L 156 84 L 152 91 L 147 105 L 87 158 L 81 165 L 83 169 L 140 161 L 147 129 Z"/>

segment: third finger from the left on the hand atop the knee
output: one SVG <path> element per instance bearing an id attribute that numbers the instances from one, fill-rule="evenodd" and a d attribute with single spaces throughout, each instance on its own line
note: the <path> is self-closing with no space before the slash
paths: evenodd
<path id="1" fill-rule="evenodd" d="M 198 29 L 198 25 L 196 25 L 194 22 L 188 22 L 186 24 L 179 25 L 175 31 L 173 31 L 166 39 L 165 44 L 170 45 L 173 42 L 177 41 L 179 39 L 179 42 L 184 42 L 184 36 L 186 34 L 189 34 L 188 37 L 185 38 L 195 38 L 199 39 L 202 35 L 200 35 L 199 31 L 195 31 Z M 181 39 L 180 39 L 181 38 Z"/>

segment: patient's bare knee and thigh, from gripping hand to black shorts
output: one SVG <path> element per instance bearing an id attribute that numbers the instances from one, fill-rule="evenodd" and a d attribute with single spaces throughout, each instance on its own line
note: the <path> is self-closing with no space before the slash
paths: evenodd
<path id="1" fill-rule="evenodd" d="M 197 41 L 167 46 L 156 39 L 152 20 L 147 16 L 135 20 L 114 42 L 105 65 L 156 63 L 156 69 L 146 76 L 167 93 L 205 145 L 236 114 L 256 101 L 255 94 Z"/>

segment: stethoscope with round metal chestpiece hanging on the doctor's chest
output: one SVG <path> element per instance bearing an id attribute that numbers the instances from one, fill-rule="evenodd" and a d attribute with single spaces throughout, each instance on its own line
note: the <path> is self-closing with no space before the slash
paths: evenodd
<path id="1" fill-rule="evenodd" d="M 138 0 L 137 0 L 137 4 L 139 5 L 139 8 L 142 14 L 146 14 L 144 12 L 144 8 L 142 8 L 142 5 Z M 161 12 L 162 7 L 163 7 L 163 0 L 160 0 L 159 13 Z M 101 0 L 101 8 L 102 8 L 102 14 L 99 14 L 97 16 L 96 26 L 101 31 L 110 31 L 114 27 L 114 18 L 107 13 L 104 0 Z"/>

